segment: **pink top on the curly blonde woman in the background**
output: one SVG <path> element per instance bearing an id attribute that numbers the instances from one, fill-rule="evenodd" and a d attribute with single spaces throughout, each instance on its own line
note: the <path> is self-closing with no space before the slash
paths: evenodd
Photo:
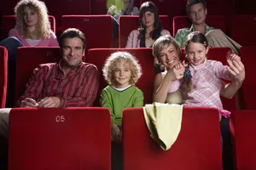
<path id="1" fill-rule="evenodd" d="M 41 40 L 36 46 L 58 46 L 59 47 L 59 42 L 57 40 L 57 37 L 55 36 L 55 33 L 53 31 L 50 31 L 49 35 L 50 35 L 49 39 Z M 13 28 L 9 31 L 9 37 L 18 38 L 20 42 L 23 44 L 23 46 L 31 46 L 28 42 L 26 42 L 26 39 L 24 39 L 24 37 L 20 35 L 19 31 L 16 28 Z"/>

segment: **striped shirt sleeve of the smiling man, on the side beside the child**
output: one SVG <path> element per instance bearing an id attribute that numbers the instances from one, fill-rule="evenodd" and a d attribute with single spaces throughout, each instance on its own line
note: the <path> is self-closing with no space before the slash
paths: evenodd
<path id="1" fill-rule="evenodd" d="M 84 79 L 81 86 L 77 89 L 73 96 L 68 96 L 66 99 L 61 96 L 56 96 L 61 99 L 59 107 L 90 107 L 96 99 L 100 84 L 100 75 L 96 66 L 90 68 L 84 74 Z"/>

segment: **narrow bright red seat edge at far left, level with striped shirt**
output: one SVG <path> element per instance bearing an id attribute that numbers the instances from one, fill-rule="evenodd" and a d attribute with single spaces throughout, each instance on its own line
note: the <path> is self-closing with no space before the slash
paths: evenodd
<path id="1" fill-rule="evenodd" d="M 0 108 L 5 107 L 7 90 L 7 49 L 0 46 Z"/>

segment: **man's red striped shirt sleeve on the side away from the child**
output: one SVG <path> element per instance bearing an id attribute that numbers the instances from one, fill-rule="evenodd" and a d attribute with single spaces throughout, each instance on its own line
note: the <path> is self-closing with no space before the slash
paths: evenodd
<path id="1" fill-rule="evenodd" d="M 30 77 L 29 81 L 26 83 L 26 90 L 23 95 L 20 96 L 20 99 L 17 101 L 17 106 L 21 106 L 21 102 L 25 99 L 34 99 L 38 100 L 39 94 L 41 94 L 42 89 L 44 87 L 44 74 L 47 70 L 46 66 L 39 65 L 33 71 L 32 77 Z"/>

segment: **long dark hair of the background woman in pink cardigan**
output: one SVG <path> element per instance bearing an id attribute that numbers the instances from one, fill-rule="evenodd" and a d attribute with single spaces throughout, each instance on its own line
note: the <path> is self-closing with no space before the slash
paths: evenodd
<path id="1" fill-rule="evenodd" d="M 140 26 L 139 26 L 138 30 L 140 31 L 140 35 L 138 36 L 138 39 L 145 37 L 146 28 L 143 25 L 142 19 L 143 19 L 143 15 L 148 11 L 151 13 L 154 13 L 154 31 L 150 32 L 150 37 L 152 37 L 152 39 L 156 40 L 158 37 L 160 37 L 161 31 L 163 28 L 162 28 L 162 24 L 160 22 L 158 9 L 154 5 L 154 3 L 150 2 L 150 1 L 143 3 L 139 10 L 139 25 Z"/>

